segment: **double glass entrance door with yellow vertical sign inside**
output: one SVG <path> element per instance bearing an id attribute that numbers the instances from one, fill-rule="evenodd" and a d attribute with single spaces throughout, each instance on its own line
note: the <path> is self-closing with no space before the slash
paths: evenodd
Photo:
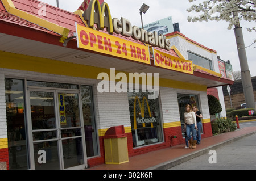
<path id="1" fill-rule="evenodd" d="M 86 152 L 78 91 L 30 90 L 31 169 L 82 169 Z"/>

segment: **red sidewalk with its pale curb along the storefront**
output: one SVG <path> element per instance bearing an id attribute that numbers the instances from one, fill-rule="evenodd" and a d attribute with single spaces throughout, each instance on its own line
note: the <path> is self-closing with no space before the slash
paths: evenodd
<path id="1" fill-rule="evenodd" d="M 209 150 L 217 149 L 233 141 L 256 133 L 256 127 L 237 129 L 234 132 L 222 133 L 216 136 L 204 138 L 196 149 L 185 148 L 185 141 L 182 145 L 152 151 L 150 153 L 129 157 L 129 162 L 120 165 L 102 164 L 86 170 L 167 170 L 189 159 L 198 157 Z"/>

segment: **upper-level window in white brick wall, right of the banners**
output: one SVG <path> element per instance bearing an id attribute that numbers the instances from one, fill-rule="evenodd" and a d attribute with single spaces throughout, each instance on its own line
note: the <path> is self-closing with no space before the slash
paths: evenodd
<path id="1" fill-rule="evenodd" d="M 193 64 L 195 65 L 212 70 L 212 61 L 207 58 L 201 57 L 192 52 L 188 52 L 188 60 L 193 61 Z"/>

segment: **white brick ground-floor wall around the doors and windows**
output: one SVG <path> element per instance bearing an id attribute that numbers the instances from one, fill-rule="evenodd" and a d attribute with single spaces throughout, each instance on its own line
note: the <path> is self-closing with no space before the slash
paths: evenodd
<path id="1" fill-rule="evenodd" d="M 97 129 L 106 129 L 118 125 L 124 125 L 125 127 L 131 126 L 127 93 L 100 93 L 97 91 L 97 83 L 100 80 L 34 73 L 30 71 L 0 70 L 2 70 L 0 74 L 0 137 L 2 138 L 7 137 L 4 74 L 8 77 L 27 79 L 34 79 L 40 75 L 39 79 L 42 81 L 91 85 L 93 86 L 94 93 L 93 100 Z M 162 111 L 161 117 L 163 123 L 180 121 L 177 92 L 198 95 L 199 102 L 201 103 L 200 111 L 203 113 L 204 119 L 210 118 L 207 92 L 172 89 L 168 87 L 159 87 L 159 91 L 159 108 Z"/>

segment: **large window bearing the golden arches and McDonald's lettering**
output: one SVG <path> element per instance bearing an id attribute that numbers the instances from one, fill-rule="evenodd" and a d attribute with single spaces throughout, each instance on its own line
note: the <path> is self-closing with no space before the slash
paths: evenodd
<path id="1" fill-rule="evenodd" d="M 158 99 L 148 92 L 129 92 L 129 110 L 134 147 L 163 141 Z"/>

